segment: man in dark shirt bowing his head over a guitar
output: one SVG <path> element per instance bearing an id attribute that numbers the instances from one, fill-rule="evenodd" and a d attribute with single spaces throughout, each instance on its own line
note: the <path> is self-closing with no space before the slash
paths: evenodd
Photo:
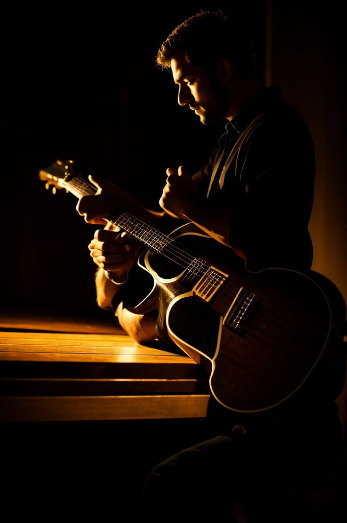
<path id="1" fill-rule="evenodd" d="M 200 13 L 171 33 L 159 49 L 157 64 L 171 69 L 179 88 L 178 103 L 189 104 L 205 125 L 226 119 L 226 133 L 209 163 L 192 177 L 182 166 L 167 169 L 160 199 L 164 212 L 145 209 L 119 187 L 96 178 L 91 181 L 98 187 L 97 196 L 83 197 L 78 212 L 89 223 L 105 224 L 103 217 L 129 211 L 163 231 L 174 229 L 177 219 L 189 220 L 234 249 L 248 270 L 309 270 L 313 142 L 304 119 L 283 101 L 280 88 L 262 89 L 257 82 L 245 33 L 229 17 Z M 135 315 L 122 306 L 128 271 L 141 249 L 130 240 L 100 230 L 89 249 L 99 267 L 99 305 L 117 307 L 126 332 L 144 342 L 158 337 L 155 317 Z M 144 488 L 148 512 L 159 519 L 163 510 L 169 510 L 178 517 L 181 491 L 190 492 L 193 500 L 184 505 L 186 515 L 188 511 L 215 518 L 226 509 L 232 514 L 242 493 L 259 494 L 262 483 L 286 478 L 293 485 L 300 477 L 308 485 L 315 474 L 333 470 L 341 448 L 333 401 L 339 391 L 338 387 L 304 413 L 272 425 L 244 426 L 237 416 L 226 416 L 214 438 L 183 450 L 148 475 Z M 209 497 L 205 503 L 202 493 Z"/>

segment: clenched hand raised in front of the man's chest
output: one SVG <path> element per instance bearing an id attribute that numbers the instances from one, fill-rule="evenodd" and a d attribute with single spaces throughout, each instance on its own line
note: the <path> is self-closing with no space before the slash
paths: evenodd
<path id="1" fill-rule="evenodd" d="M 167 169 L 168 175 L 159 205 L 168 214 L 181 219 L 189 219 L 189 211 L 201 199 L 195 181 L 184 167 Z"/>

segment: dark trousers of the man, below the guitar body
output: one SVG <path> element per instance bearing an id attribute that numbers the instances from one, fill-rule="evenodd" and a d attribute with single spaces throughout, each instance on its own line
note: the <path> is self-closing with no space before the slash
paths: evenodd
<path id="1" fill-rule="evenodd" d="M 284 422 L 225 430 L 157 464 L 146 477 L 143 508 L 152 521 L 188 517 L 236 521 L 235 503 L 266 491 L 315 488 L 336 470 L 342 431 L 336 409 Z"/>

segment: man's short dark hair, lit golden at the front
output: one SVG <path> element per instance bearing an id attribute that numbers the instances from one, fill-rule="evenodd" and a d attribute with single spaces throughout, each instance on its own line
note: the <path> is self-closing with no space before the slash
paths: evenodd
<path id="1" fill-rule="evenodd" d="M 256 77 L 252 41 L 229 15 L 207 11 L 184 20 L 161 44 L 156 63 L 169 69 L 172 58 L 182 50 L 192 65 L 204 67 L 209 74 L 224 58 L 242 78 Z"/>

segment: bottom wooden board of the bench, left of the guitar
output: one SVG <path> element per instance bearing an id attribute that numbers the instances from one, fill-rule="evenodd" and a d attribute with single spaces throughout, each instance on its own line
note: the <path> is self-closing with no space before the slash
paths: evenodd
<path id="1" fill-rule="evenodd" d="M 0 397 L 1 422 L 200 418 L 210 395 Z"/>

